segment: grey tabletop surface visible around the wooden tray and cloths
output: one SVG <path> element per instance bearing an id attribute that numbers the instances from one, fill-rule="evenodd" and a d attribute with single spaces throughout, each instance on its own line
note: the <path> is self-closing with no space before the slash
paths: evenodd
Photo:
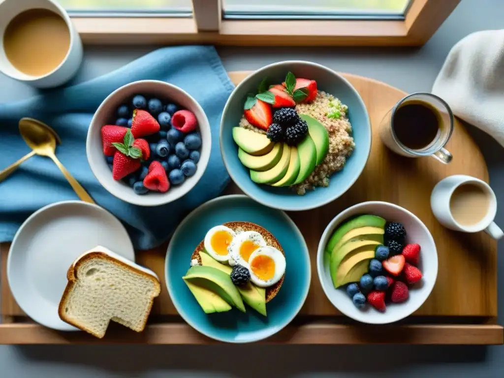
<path id="1" fill-rule="evenodd" d="M 443 0 L 438 0 L 443 1 Z M 223 47 L 228 71 L 252 70 L 270 62 L 305 59 L 337 71 L 387 82 L 407 92 L 429 91 L 450 48 L 467 34 L 504 28 L 504 1 L 462 0 L 421 48 L 247 48 Z M 112 71 L 154 47 L 88 47 L 78 80 Z M 7 89 L 8 88 L 8 89 Z M 33 90 L 0 74 L 0 102 L 26 98 Z M 470 128 L 490 172 L 499 203 L 504 200 L 504 154 L 487 135 Z M 504 225 L 504 207 L 497 210 Z M 498 249 L 504 248 L 500 241 Z M 498 257 L 504 269 L 504 256 Z M 498 276 L 498 285 L 504 278 Z M 460 288 L 463 290 L 464 288 Z M 504 324 L 504 291 L 498 291 Z M 12 377 L 253 377 L 253 376 L 504 376 L 499 346 L 0 346 L 0 376 Z"/>

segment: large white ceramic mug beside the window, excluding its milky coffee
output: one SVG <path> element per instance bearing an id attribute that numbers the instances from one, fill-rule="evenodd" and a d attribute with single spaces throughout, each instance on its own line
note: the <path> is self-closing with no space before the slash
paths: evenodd
<path id="1" fill-rule="evenodd" d="M 70 47 L 58 67 L 41 76 L 27 75 L 14 67 L 4 49 L 4 33 L 11 20 L 30 9 L 46 9 L 61 16 L 70 31 Z M 82 62 L 82 42 L 72 20 L 55 0 L 0 0 L 0 71 L 13 79 L 38 88 L 52 88 L 69 81 Z M 36 56 L 33 57 L 36 59 Z"/>

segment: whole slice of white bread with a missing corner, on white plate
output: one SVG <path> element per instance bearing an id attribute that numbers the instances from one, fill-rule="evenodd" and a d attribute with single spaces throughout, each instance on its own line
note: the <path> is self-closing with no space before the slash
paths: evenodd
<path id="1" fill-rule="evenodd" d="M 59 302 L 62 321 L 102 338 L 110 321 L 141 332 L 161 291 L 154 272 L 97 246 L 72 264 Z"/>

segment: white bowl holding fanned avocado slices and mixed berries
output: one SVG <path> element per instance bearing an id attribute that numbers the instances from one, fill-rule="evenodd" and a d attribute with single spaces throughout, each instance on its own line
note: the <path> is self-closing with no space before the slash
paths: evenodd
<path id="1" fill-rule="evenodd" d="M 317 271 L 338 310 L 359 322 L 387 324 L 425 302 L 437 277 L 437 251 L 413 213 L 388 202 L 363 202 L 326 227 Z"/>

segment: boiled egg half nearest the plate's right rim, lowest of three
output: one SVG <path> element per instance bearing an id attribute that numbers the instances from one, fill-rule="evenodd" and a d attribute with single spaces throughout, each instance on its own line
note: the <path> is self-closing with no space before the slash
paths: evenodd
<path id="1" fill-rule="evenodd" d="M 285 273 L 285 256 L 272 246 L 256 249 L 248 259 L 250 281 L 259 287 L 276 284 Z"/>

